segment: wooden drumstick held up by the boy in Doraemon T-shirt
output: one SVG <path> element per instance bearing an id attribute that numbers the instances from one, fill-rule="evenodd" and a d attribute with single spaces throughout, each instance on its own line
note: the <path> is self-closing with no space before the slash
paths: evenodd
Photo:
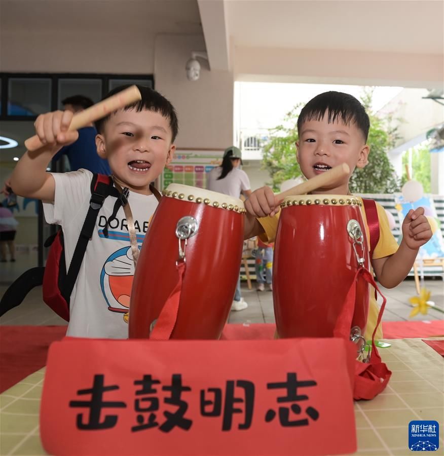
<path id="1" fill-rule="evenodd" d="M 79 130 L 80 128 L 86 127 L 88 124 L 91 124 L 118 109 L 124 108 L 141 98 L 142 96 L 140 95 L 137 86 L 128 87 L 128 89 L 122 90 L 122 92 L 116 93 L 116 95 L 106 98 L 73 116 L 68 130 Z M 30 151 L 40 149 L 43 145 L 44 144 L 37 135 L 34 135 L 25 141 L 25 147 Z"/>

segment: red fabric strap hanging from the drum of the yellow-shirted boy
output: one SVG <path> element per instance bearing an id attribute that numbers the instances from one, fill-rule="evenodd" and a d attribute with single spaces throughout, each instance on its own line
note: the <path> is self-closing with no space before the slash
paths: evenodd
<path id="1" fill-rule="evenodd" d="M 355 361 L 353 398 L 373 399 L 385 389 L 392 373 L 387 368 L 387 365 L 381 361 L 381 357 L 375 345 L 376 329 L 381 323 L 382 314 L 384 313 L 385 309 L 386 298 L 379 290 L 372 274 L 364 268 L 359 268 L 356 272 L 355 278 L 345 298 L 344 307 L 338 318 L 334 335 L 335 337 L 344 337 L 347 339 L 350 337 L 349 332 L 355 309 L 356 284 L 360 279 L 365 280 L 373 287 L 375 287 L 375 290 L 377 290 L 383 298 L 381 310 L 379 311 L 378 315 L 378 321 L 372 335 L 372 352 L 370 355 L 370 360 L 368 363 L 363 363 L 358 360 Z"/>

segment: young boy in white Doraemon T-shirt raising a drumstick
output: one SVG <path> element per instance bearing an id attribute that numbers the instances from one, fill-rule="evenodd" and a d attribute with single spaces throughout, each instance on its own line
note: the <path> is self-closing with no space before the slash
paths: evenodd
<path id="1" fill-rule="evenodd" d="M 116 88 L 108 96 L 125 88 Z M 133 244 L 138 244 L 133 246 L 136 252 L 158 204 L 150 190 L 150 182 L 172 160 L 178 130 L 171 103 L 152 89 L 138 88 L 142 96 L 140 101 L 96 123 L 97 154 L 108 160 L 115 185 L 129 189 L 128 205 L 137 238 Z M 78 138 L 78 132 L 67 130 L 71 119 L 69 110 L 39 116 L 34 124 L 35 131 L 44 146 L 34 152 L 27 151 L 11 178 L 14 192 L 42 200 L 47 222 L 61 225 L 66 268 L 89 208 L 93 177 L 85 169 L 69 173 L 46 172 L 57 151 Z M 134 261 L 127 217 L 116 201 L 116 197 L 108 196 L 99 211 L 70 296 L 67 335 L 128 337 L 124 315 L 129 307 Z M 116 208 L 118 211 L 114 214 Z"/>

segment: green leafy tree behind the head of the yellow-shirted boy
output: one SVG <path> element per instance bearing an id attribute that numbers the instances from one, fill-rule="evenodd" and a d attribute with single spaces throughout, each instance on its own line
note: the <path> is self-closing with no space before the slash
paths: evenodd
<path id="1" fill-rule="evenodd" d="M 393 115 L 379 117 L 371 112 L 372 89 L 365 89 L 361 96 L 369 118 L 370 130 L 367 143 L 370 146 L 368 165 L 356 169 L 350 179 L 352 193 L 393 193 L 399 191 L 399 181 L 387 153 L 395 145 L 397 127 L 393 127 Z M 274 191 L 287 179 L 302 175 L 296 161 L 294 143 L 298 140 L 297 122 L 302 105 L 288 112 L 281 125 L 270 130 L 269 141 L 264 147 L 263 168 L 272 179 Z"/>

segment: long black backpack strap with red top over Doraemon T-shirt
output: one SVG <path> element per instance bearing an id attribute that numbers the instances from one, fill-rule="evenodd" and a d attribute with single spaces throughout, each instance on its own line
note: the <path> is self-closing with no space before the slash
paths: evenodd
<path id="1" fill-rule="evenodd" d="M 76 248 L 72 254 L 71 263 L 69 264 L 69 269 L 66 274 L 66 280 L 63 284 L 63 290 L 61 290 L 62 295 L 67 302 L 69 302 L 69 297 L 71 296 L 72 289 L 74 288 L 77 276 L 79 275 L 80 266 L 83 257 L 85 256 L 88 242 L 93 235 L 100 208 L 102 207 L 105 198 L 114 193 L 114 189 L 113 179 L 110 176 L 94 173 L 91 181 L 91 199 L 89 200 L 88 213 L 83 222 Z"/>

